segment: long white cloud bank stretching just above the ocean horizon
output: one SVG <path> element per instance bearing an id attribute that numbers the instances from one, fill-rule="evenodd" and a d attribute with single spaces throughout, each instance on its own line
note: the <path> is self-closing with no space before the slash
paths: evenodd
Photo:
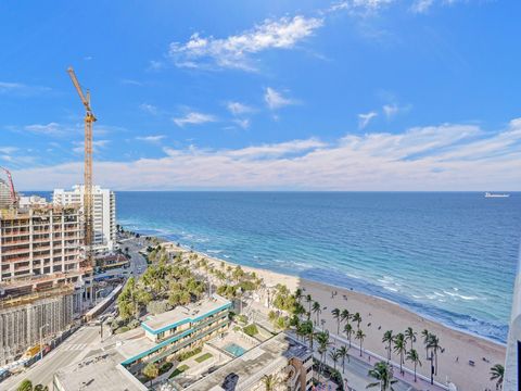
<path id="1" fill-rule="evenodd" d="M 521 119 L 494 134 L 444 124 L 334 142 L 165 149 L 160 159 L 98 162 L 94 175 L 102 186 L 138 190 L 521 190 L 520 147 Z M 13 174 L 21 188 L 52 189 L 77 182 L 81 173 L 77 162 Z"/>

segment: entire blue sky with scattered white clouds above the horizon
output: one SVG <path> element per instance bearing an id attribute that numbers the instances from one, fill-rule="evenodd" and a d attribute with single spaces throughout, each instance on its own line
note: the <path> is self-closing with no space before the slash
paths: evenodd
<path id="1" fill-rule="evenodd" d="M 521 2 L 0 2 L 21 190 L 521 190 Z"/>

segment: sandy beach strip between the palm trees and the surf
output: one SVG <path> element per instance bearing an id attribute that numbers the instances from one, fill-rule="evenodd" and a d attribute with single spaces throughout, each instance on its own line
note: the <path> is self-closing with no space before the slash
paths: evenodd
<path id="1" fill-rule="evenodd" d="M 221 262 L 236 266 L 231 262 L 216 258 L 208 254 L 199 254 L 206 257 L 208 262 L 214 263 L 215 267 L 218 267 Z M 478 336 L 454 330 L 387 300 L 266 269 L 243 265 L 241 267 L 246 272 L 255 272 L 264 279 L 267 286 L 283 283 L 292 291 L 301 288 L 304 290 L 304 295 L 310 294 L 314 301 L 318 301 L 321 304 L 322 308 L 327 307 L 320 316 L 326 319 L 325 327 L 332 335 L 336 333 L 336 320 L 333 319 L 331 310 L 338 307 L 340 310 L 347 308 L 351 313 L 360 313 L 363 317 L 360 328 L 367 336 L 364 341 L 364 348 L 381 356 L 386 356 L 384 344 L 381 342 L 384 331 L 393 330 L 394 333 L 397 333 L 403 332 L 407 327 L 412 327 L 418 332 L 415 349 L 420 353 L 422 361 L 422 366 L 418 367 L 418 373 L 424 376 L 430 376 L 430 365 L 424 360 L 425 350 L 422 343 L 423 338 L 420 333 L 423 329 L 428 329 L 440 338 L 440 345 L 444 349 L 444 352 L 439 354 L 436 381 L 445 383 L 449 380 L 458 387 L 458 390 L 463 391 L 495 389 L 495 383 L 490 380 L 490 368 L 494 364 L 504 363 L 506 354 L 504 345 Z M 333 298 L 332 292 L 336 292 Z M 303 304 L 306 306 L 305 302 Z M 353 340 L 353 342 L 356 341 Z M 350 354 L 357 355 L 358 353 L 355 348 L 352 348 Z M 394 353 L 393 361 L 398 362 Z M 474 365 L 471 366 L 469 361 L 472 361 Z"/>

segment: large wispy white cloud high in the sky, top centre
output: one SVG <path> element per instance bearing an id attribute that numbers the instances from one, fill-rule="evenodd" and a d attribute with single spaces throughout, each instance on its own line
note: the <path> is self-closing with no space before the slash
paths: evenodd
<path id="1" fill-rule="evenodd" d="M 220 67 L 255 71 L 252 55 L 270 49 L 292 49 L 322 26 L 323 21 L 301 15 L 266 20 L 227 38 L 193 34 L 186 43 L 173 42 L 169 56 L 179 67 Z"/>

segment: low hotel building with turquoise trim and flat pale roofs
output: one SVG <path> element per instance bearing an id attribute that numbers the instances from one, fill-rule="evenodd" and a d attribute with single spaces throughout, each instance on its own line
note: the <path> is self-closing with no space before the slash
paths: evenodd
<path id="1" fill-rule="evenodd" d="M 56 371 L 53 390 L 147 390 L 135 377 L 144 365 L 191 351 L 225 332 L 230 307 L 230 301 L 213 295 L 150 316 L 141 327 L 117 335 L 115 348 Z"/>

